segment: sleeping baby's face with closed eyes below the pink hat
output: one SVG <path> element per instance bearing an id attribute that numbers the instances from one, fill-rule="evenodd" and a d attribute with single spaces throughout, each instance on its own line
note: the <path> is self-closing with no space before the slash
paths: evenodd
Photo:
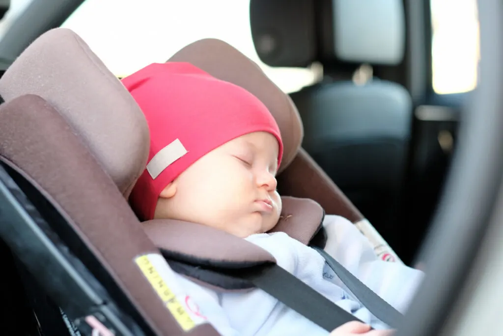
<path id="1" fill-rule="evenodd" d="M 241 136 L 184 171 L 159 197 L 154 218 L 208 225 L 238 237 L 266 232 L 278 222 L 278 141 L 267 132 Z"/>

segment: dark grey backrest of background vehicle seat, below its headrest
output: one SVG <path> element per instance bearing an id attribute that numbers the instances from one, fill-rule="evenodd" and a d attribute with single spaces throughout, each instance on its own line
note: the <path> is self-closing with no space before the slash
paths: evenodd
<path id="1" fill-rule="evenodd" d="M 377 231 L 397 246 L 395 218 L 411 137 L 412 102 L 402 86 L 374 80 L 319 84 L 291 95 L 304 123 L 302 147 Z"/>

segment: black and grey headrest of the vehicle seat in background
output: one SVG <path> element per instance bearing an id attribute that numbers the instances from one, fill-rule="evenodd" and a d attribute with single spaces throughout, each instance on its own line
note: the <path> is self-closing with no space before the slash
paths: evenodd
<path id="1" fill-rule="evenodd" d="M 401 0 L 250 0 L 250 28 L 271 66 L 399 64 L 405 50 Z"/>

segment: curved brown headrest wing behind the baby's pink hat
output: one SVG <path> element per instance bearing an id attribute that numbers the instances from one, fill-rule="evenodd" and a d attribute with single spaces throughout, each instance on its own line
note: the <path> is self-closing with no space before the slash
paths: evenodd
<path id="1" fill-rule="evenodd" d="M 288 166 L 302 143 L 302 121 L 290 97 L 269 80 L 255 62 L 217 39 L 203 39 L 189 44 L 169 61 L 192 63 L 213 77 L 238 85 L 259 98 L 280 127 L 284 153 L 279 171 Z"/>

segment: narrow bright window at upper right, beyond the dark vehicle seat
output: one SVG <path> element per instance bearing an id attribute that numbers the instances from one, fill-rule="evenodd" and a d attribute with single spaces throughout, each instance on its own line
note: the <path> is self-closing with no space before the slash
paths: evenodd
<path id="1" fill-rule="evenodd" d="M 430 0 L 433 89 L 439 94 L 473 90 L 478 81 L 479 24 L 476 0 Z"/>

